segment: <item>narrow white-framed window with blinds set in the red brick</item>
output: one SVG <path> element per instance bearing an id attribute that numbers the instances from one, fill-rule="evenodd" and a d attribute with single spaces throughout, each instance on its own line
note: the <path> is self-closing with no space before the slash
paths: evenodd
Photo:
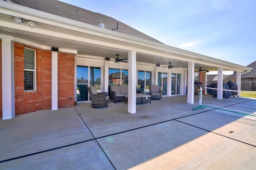
<path id="1" fill-rule="evenodd" d="M 24 48 L 24 91 L 36 91 L 36 51 Z"/>

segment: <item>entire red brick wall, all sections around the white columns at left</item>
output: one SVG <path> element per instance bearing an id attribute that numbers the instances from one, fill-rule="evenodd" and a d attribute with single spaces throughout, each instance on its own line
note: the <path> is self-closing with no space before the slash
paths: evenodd
<path id="1" fill-rule="evenodd" d="M 36 50 L 36 92 L 24 92 L 24 47 Z M 0 117 L 2 118 L 2 41 L 0 41 Z M 58 53 L 58 107 L 74 106 L 74 54 Z M 14 43 L 15 115 L 51 109 L 52 51 Z"/>

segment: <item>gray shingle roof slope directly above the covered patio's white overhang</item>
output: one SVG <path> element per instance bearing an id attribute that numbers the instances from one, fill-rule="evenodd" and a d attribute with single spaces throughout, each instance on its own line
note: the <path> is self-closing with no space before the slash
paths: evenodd
<path id="1" fill-rule="evenodd" d="M 8 0 L 8 1 L 13 2 L 14 4 L 26 6 L 28 8 L 40 10 L 40 11 L 54 14 L 57 16 L 62 16 L 64 18 L 69 18 L 71 20 L 88 23 L 90 25 L 98 26 L 100 23 L 103 23 L 105 25 L 105 28 L 110 30 L 116 29 L 117 27 L 116 23 L 119 23 L 119 29 L 114 31 L 118 31 L 120 33 L 125 33 L 135 37 L 140 37 L 142 39 L 147 39 L 150 41 L 161 43 L 160 41 L 122 23 L 121 21 L 115 20 L 114 18 L 111 18 L 106 15 L 102 15 L 99 13 L 91 12 L 89 10 L 80 8 L 78 6 L 66 4 L 58 0 Z M 79 9 L 79 12 L 78 12 L 78 9 Z"/>

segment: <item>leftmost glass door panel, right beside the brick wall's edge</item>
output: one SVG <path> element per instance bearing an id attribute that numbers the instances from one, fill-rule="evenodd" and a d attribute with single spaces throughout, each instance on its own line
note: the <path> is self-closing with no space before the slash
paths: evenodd
<path id="1" fill-rule="evenodd" d="M 76 67 L 77 78 L 76 78 L 76 97 L 77 101 L 88 100 L 88 66 L 77 66 Z"/>

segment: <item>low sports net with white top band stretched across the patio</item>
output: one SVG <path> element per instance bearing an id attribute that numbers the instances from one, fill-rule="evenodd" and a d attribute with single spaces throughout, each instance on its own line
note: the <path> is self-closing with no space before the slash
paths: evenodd
<path id="1" fill-rule="evenodd" d="M 193 110 L 205 107 L 256 116 L 256 91 L 200 87 L 199 106 Z"/>

